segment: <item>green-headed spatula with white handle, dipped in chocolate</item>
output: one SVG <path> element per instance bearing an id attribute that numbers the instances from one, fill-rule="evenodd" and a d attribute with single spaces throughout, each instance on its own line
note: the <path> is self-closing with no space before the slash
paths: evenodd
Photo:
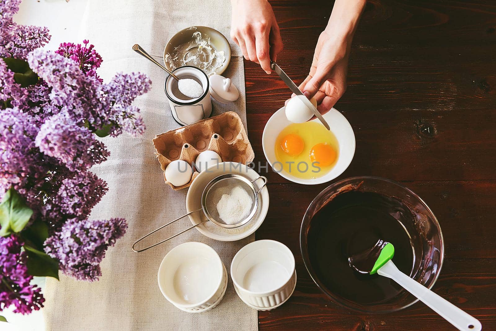
<path id="1" fill-rule="evenodd" d="M 366 252 L 350 257 L 350 266 L 362 274 L 379 274 L 380 276 L 393 279 L 403 286 L 408 292 L 415 295 L 420 301 L 428 305 L 437 314 L 451 323 L 455 328 L 462 331 L 480 331 L 481 322 L 465 313 L 449 301 L 435 294 L 415 279 L 403 274 L 396 268 L 391 259 L 394 256 L 394 246 L 382 240 Z M 372 261 L 371 261 L 372 259 Z M 375 259 L 375 261 L 373 261 Z M 373 262 L 373 265 L 372 265 Z M 372 269 L 371 267 L 372 266 Z"/>

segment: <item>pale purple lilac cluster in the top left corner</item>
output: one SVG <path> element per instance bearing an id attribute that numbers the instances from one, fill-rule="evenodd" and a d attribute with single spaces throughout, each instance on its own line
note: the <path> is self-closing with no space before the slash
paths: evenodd
<path id="1" fill-rule="evenodd" d="M 13 16 L 20 0 L 0 0 L 0 57 L 26 58 L 50 40 L 46 27 L 18 25 Z"/>

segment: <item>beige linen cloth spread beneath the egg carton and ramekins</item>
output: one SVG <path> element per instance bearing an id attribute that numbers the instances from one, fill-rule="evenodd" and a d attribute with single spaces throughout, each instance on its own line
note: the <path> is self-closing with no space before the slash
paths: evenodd
<path id="1" fill-rule="evenodd" d="M 177 309 L 162 296 L 157 284 L 160 262 L 178 244 L 200 241 L 210 245 L 229 275 L 232 258 L 254 240 L 254 235 L 236 242 L 220 242 L 193 229 L 145 252 L 131 250 L 136 239 L 185 214 L 187 191 L 173 191 L 164 183 L 163 172 L 153 154 L 155 135 L 179 127 L 170 114 L 163 91 L 166 73 L 131 47 L 138 43 L 161 62 L 167 41 L 186 27 L 209 26 L 229 36 L 230 8 L 228 0 L 88 1 L 81 37 L 89 39 L 102 55 L 104 61 L 99 69 L 102 78 L 108 81 L 118 71 L 140 71 L 148 74 L 153 84 L 148 94 L 135 101 L 147 126 L 144 135 L 132 137 L 124 133 L 118 138 L 104 138 L 111 156 L 104 164 L 93 167 L 110 189 L 93 209 L 91 218 L 124 217 L 129 223 L 127 233 L 107 251 L 99 281 L 76 281 L 63 275 L 60 281 L 47 280 L 44 308 L 47 330 L 258 329 L 256 311 L 237 296 L 230 276 L 224 299 L 216 308 L 202 314 Z M 231 64 L 224 75 L 236 84 L 240 98 L 230 105 L 212 101 L 213 115 L 234 110 L 246 126 L 243 60 L 232 41 L 231 49 Z M 153 239 L 164 239 L 190 224 L 187 218 L 176 223 L 159 231 Z"/>

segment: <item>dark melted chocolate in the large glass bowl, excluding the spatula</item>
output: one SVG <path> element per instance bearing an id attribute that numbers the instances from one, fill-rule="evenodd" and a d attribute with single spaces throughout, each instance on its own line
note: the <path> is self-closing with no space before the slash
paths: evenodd
<path id="1" fill-rule="evenodd" d="M 361 274 L 350 267 L 348 258 L 370 251 L 382 239 L 395 247 L 394 264 L 410 275 L 414 249 L 402 223 L 411 224 L 413 219 L 412 211 L 393 197 L 359 190 L 334 196 L 315 213 L 308 233 L 310 264 L 321 285 L 336 296 L 362 305 L 398 295 L 402 287 L 396 282 L 377 274 Z"/>

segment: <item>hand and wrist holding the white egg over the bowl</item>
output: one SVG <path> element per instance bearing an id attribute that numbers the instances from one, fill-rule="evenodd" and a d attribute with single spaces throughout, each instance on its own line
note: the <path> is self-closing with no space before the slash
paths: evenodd
<path id="1" fill-rule="evenodd" d="M 346 91 L 349 45 L 346 38 L 334 38 L 327 29 L 318 38 L 310 73 L 299 88 L 307 98 L 315 98 L 321 114 L 329 111 Z"/>

